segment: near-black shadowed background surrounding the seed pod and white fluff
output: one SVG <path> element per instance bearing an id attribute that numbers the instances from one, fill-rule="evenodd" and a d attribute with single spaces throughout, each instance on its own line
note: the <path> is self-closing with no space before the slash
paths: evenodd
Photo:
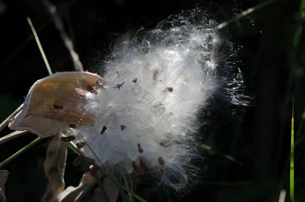
<path id="1" fill-rule="evenodd" d="M 0 6 L 0 121 L 23 102 L 29 87 L 48 75 L 26 21 L 29 16 L 53 72 L 72 71 L 67 49 L 42 0 L 1 0 Z M 120 34 L 157 22 L 182 9 L 200 6 L 222 22 L 260 0 L 52 0 L 65 31 L 72 39 L 85 69 L 94 71 Z M 292 94 L 295 112 L 295 199 L 305 201 L 304 111 L 305 40 L 298 45 L 298 0 L 275 1 L 224 30 L 242 47 L 236 60 L 245 77 L 252 106 L 241 121 L 212 114 L 201 134 L 202 143 L 228 154 L 242 166 L 217 152 L 204 152 L 205 176 L 188 193 L 160 187 L 151 190 L 143 182 L 136 193 L 149 202 L 277 202 L 284 189 L 289 196 L 289 148 Z M 3 7 L 3 5 L 5 5 Z M 303 15 L 304 18 L 305 15 Z M 303 21 L 302 21 L 303 22 Z M 0 133 L 8 134 L 9 129 Z M 0 162 L 36 136 L 27 134 L 0 145 Z M 43 161 L 48 139 L 5 166 L 7 202 L 36 202 L 45 190 Z M 74 168 L 69 151 L 66 185 L 77 186 L 84 172 Z M 90 198 L 92 192 L 83 201 Z"/>

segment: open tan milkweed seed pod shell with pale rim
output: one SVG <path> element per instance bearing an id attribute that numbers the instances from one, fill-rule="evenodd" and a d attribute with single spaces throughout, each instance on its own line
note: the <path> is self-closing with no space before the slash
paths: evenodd
<path id="1" fill-rule="evenodd" d="M 89 72 L 58 72 L 36 81 L 8 127 L 48 137 L 79 125 L 93 126 L 93 115 L 82 106 L 86 86 L 96 85 L 98 79 Z"/>

